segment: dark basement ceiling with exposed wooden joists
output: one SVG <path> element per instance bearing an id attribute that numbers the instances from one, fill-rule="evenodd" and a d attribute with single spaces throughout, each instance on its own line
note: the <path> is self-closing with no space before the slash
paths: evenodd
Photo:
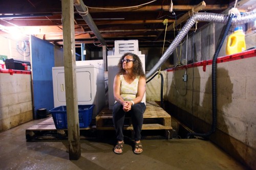
<path id="1" fill-rule="evenodd" d="M 75 0 L 74 0 L 75 2 Z M 139 47 L 169 45 L 193 12 L 222 13 L 234 1 L 83 1 L 107 47 L 114 47 L 115 40 L 138 39 Z M 31 34 L 62 46 L 61 1 L 12 0 L 0 2 L 0 34 L 7 34 L 3 27 L 18 27 L 24 34 Z M 163 21 L 167 20 L 167 27 Z M 176 21 L 176 24 L 174 22 Z M 199 22 L 197 29 L 207 22 Z M 75 44 L 85 43 L 90 50 L 101 46 L 86 21 L 74 7 Z M 166 35 L 165 35 L 165 29 Z M 195 27 L 191 28 L 195 31 Z"/>

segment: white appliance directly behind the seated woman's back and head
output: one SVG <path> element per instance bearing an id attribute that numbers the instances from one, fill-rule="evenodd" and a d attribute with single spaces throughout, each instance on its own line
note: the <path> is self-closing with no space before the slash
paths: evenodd
<path id="1" fill-rule="evenodd" d="M 145 71 L 145 55 L 140 54 L 138 55 L 143 66 L 143 70 Z M 113 84 L 114 84 L 114 78 L 118 72 L 118 62 L 122 55 L 115 55 L 115 56 L 108 56 L 108 83 L 109 83 L 109 109 L 113 109 L 113 106 L 115 104 L 114 99 L 114 90 L 113 90 Z M 146 93 L 143 96 L 142 102 L 146 104 Z"/>

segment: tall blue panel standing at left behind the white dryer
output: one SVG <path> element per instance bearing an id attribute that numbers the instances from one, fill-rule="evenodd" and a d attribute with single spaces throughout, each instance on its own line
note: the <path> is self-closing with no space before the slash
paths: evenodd
<path id="1" fill-rule="evenodd" d="M 37 110 L 54 108 L 52 67 L 54 67 L 54 45 L 31 36 L 31 65 L 33 82 L 34 118 Z"/>

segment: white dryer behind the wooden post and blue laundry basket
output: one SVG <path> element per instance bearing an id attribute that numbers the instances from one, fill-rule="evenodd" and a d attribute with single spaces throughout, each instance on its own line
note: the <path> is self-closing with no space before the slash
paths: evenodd
<path id="1" fill-rule="evenodd" d="M 90 64 L 94 65 L 90 65 Z M 101 64 L 102 63 L 102 64 Z M 64 67 L 53 67 L 54 107 L 66 105 Z M 104 66 L 102 61 L 76 62 L 78 105 L 95 105 L 93 118 L 105 106 Z"/>

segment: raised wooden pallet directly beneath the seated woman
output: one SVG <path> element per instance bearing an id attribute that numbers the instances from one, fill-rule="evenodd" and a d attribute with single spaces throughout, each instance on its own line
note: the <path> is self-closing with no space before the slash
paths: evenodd
<path id="1" fill-rule="evenodd" d="M 112 118 L 112 110 L 109 110 L 109 108 L 105 107 L 96 116 L 96 129 L 114 130 Z M 143 114 L 142 130 L 165 130 L 166 137 L 170 138 L 173 129 L 170 125 L 170 122 L 170 115 L 164 111 L 156 102 L 146 103 L 146 110 Z M 131 117 L 125 117 L 123 129 L 133 131 Z"/>

